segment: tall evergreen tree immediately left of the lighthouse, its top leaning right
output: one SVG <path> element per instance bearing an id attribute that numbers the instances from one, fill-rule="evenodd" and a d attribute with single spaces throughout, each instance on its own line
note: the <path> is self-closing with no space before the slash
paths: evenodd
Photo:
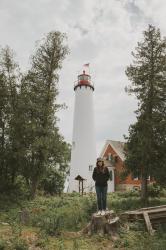
<path id="1" fill-rule="evenodd" d="M 57 126 L 58 70 L 68 53 L 65 36 L 50 32 L 42 39 L 32 67 L 23 77 L 20 92 L 22 169 L 34 197 L 40 179 L 50 164 L 64 163 L 67 147 Z"/>

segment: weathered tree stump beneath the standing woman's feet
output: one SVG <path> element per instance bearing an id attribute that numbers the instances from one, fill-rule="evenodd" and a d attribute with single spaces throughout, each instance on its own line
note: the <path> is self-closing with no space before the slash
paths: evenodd
<path id="1" fill-rule="evenodd" d="M 107 211 L 104 215 L 92 214 L 91 222 L 82 229 L 83 234 L 93 233 L 104 235 L 115 235 L 118 228 L 119 217 L 115 216 L 113 210 Z"/>

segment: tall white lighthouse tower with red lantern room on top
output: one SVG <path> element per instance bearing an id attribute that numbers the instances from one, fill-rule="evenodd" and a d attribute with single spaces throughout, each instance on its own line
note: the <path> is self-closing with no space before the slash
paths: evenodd
<path id="1" fill-rule="evenodd" d="M 94 191 L 92 179 L 96 164 L 96 139 L 94 126 L 93 92 L 89 74 L 78 75 L 74 86 L 75 108 L 68 191 Z"/>

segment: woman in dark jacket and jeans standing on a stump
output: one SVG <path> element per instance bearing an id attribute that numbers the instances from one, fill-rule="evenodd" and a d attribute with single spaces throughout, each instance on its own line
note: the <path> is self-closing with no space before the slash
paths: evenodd
<path id="1" fill-rule="evenodd" d="M 104 161 L 102 158 L 97 158 L 96 167 L 93 170 L 92 178 L 95 181 L 97 195 L 97 214 L 104 215 L 107 205 L 107 181 L 109 180 L 109 171 L 108 168 L 104 166 Z"/>

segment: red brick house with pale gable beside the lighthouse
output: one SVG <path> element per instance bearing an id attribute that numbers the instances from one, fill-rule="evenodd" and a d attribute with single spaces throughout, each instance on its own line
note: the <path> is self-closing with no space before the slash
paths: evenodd
<path id="1" fill-rule="evenodd" d="M 128 175 L 125 180 L 120 178 L 124 171 L 124 142 L 107 140 L 100 157 L 110 171 L 108 192 L 140 189 L 141 181 L 137 176 Z"/>

